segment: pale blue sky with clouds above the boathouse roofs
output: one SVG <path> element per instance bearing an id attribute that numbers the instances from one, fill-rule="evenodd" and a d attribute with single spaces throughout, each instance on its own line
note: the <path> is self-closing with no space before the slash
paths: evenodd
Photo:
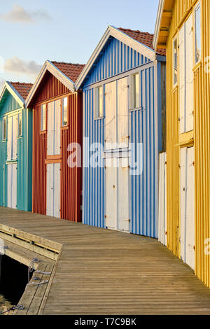
<path id="1" fill-rule="evenodd" d="M 109 25 L 154 33 L 159 0 L 0 0 L 0 87 L 46 59 L 85 64 Z"/>

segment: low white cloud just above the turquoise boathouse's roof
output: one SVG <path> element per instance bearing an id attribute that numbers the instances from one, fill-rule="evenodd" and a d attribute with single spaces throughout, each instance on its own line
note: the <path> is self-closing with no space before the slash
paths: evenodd
<path id="1" fill-rule="evenodd" d="M 26 74 L 27 76 L 35 77 L 41 70 L 41 67 L 42 66 L 34 62 L 34 60 L 25 62 L 18 57 L 13 57 L 6 59 L 4 71 L 21 73 Z"/>

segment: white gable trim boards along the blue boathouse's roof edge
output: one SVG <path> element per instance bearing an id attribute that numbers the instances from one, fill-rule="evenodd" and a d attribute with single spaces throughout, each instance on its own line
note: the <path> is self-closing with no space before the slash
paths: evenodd
<path id="1" fill-rule="evenodd" d="M 139 41 L 134 40 L 134 38 L 128 36 L 123 31 L 120 31 L 120 29 L 109 26 L 106 29 L 101 40 L 99 41 L 97 48 L 95 48 L 90 59 L 88 60 L 87 64 L 85 65 L 83 71 L 80 73 L 80 76 L 78 76 L 78 79 L 76 80 L 76 83 L 75 83 L 76 90 L 78 90 L 80 88 L 80 86 L 82 85 L 88 72 L 92 68 L 92 65 L 96 61 L 97 57 L 99 56 L 100 52 L 104 48 L 104 45 L 106 44 L 106 41 L 108 41 L 110 36 L 113 36 L 114 38 L 118 39 L 119 41 L 125 43 L 126 45 L 130 46 L 132 49 L 137 50 L 137 52 L 141 52 L 145 57 L 151 59 L 151 61 L 153 61 L 153 62 L 155 61 L 155 58 L 156 58 L 155 50 L 149 48 L 147 45 L 144 45 L 144 43 L 140 43 Z"/>

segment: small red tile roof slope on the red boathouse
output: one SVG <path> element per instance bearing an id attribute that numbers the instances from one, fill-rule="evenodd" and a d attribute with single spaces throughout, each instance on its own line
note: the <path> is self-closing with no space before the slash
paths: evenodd
<path id="1" fill-rule="evenodd" d="M 57 67 L 62 73 L 65 74 L 68 78 L 70 78 L 73 83 L 76 82 L 78 76 L 80 75 L 81 71 L 83 71 L 83 67 L 85 64 L 72 64 L 72 63 L 64 63 L 64 62 L 55 62 L 51 61 L 53 65 Z"/>

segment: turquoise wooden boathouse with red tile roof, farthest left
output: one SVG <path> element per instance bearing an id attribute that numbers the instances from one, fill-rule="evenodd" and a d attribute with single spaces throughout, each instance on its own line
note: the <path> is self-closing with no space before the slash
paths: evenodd
<path id="1" fill-rule="evenodd" d="M 0 92 L 0 206 L 31 211 L 31 83 L 6 81 Z"/>

